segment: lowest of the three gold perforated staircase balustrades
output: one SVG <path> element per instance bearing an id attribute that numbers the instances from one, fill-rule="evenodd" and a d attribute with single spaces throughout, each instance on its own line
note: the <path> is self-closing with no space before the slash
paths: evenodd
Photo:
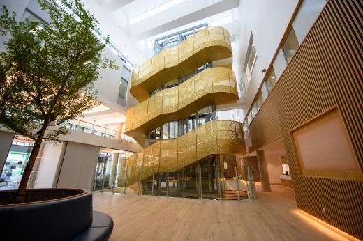
<path id="1" fill-rule="evenodd" d="M 131 186 L 153 173 L 175 172 L 209 155 L 246 154 L 242 124 L 214 120 L 177 139 L 161 140 L 128 157 L 121 167 Z"/>

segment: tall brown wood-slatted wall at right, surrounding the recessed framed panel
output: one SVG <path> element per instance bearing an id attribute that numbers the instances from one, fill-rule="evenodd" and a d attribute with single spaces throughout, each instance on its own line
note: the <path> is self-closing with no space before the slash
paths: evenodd
<path id="1" fill-rule="evenodd" d="M 359 239 L 363 182 L 300 176 L 290 130 L 338 107 L 363 171 L 362 32 L 363 1 L 330 0 L 250 125 L 251 150 L 280 125 L 298 208 Z"/>

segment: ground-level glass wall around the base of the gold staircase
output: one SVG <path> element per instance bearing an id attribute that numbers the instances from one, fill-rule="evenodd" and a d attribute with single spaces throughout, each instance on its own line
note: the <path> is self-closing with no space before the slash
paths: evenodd
<path id="1" fill-rule="evenodd" d="M 162 164 L 160 160 L 140 160 L 135 153 L 112 153 L 102 150 L 95 170 L 92 191 L 190 199 L 247 199 L 249 183 L 242 176 L 225 176 L 227 163 L 223 157 L 211 155 L 184 168 Z M 134 159 L 136 158 L 136 159 Z M 126 160 L 127 159 L 127 160 Z M 137 160 L 137 162 L 131 162 Z M 132 163 L 132 164 L 131 164 Z M 224 166 L 224 168 L 223 168 Z M 228 164 L 228 169 L 242 173 L 241 166 Z M 242 174 L 241 174 L 242 175 Z M 225 196 L 225 191 L 235 199 Z M 237 199 L 237 190 L 239 197 Z"/>

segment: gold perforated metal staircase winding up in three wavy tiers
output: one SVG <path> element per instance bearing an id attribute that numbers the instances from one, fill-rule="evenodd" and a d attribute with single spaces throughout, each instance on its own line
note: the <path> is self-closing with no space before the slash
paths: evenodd
<path id="1" fill-rule="evenodd" d="M 203 29 L 176 47 L 157 54 L 133 71 L 131 94 L 140 104 L 126 114 L 125 134 L 145 148 L 146 135 L 171 120 L 185 118 L 209 104 L 238 100 L 235 74 L 231 66 L 203 70 L 173 88 L 155 91 L 171 79 L 188 75 L 201 65 L 232 58 L 230 36 L 221 27 Z M 124 162 L 128 185 L 153 173 L 173 172 L 210 155 L 245 153 L 242 124 L 214 120 L 176 139 L 163 139 Z"/>

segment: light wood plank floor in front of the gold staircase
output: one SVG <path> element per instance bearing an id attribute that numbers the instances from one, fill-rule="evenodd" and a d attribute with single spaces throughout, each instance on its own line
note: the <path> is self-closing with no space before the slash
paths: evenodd
<path id="1" fill-rule="evenodd" d="M 257 191 L 257 197 L 237 202 L 96 192 L 94 210 L 114 220 L 110 240 L 346 240 L 300 214 L 287 187 L 272 185 L 272 193 Z"/>

